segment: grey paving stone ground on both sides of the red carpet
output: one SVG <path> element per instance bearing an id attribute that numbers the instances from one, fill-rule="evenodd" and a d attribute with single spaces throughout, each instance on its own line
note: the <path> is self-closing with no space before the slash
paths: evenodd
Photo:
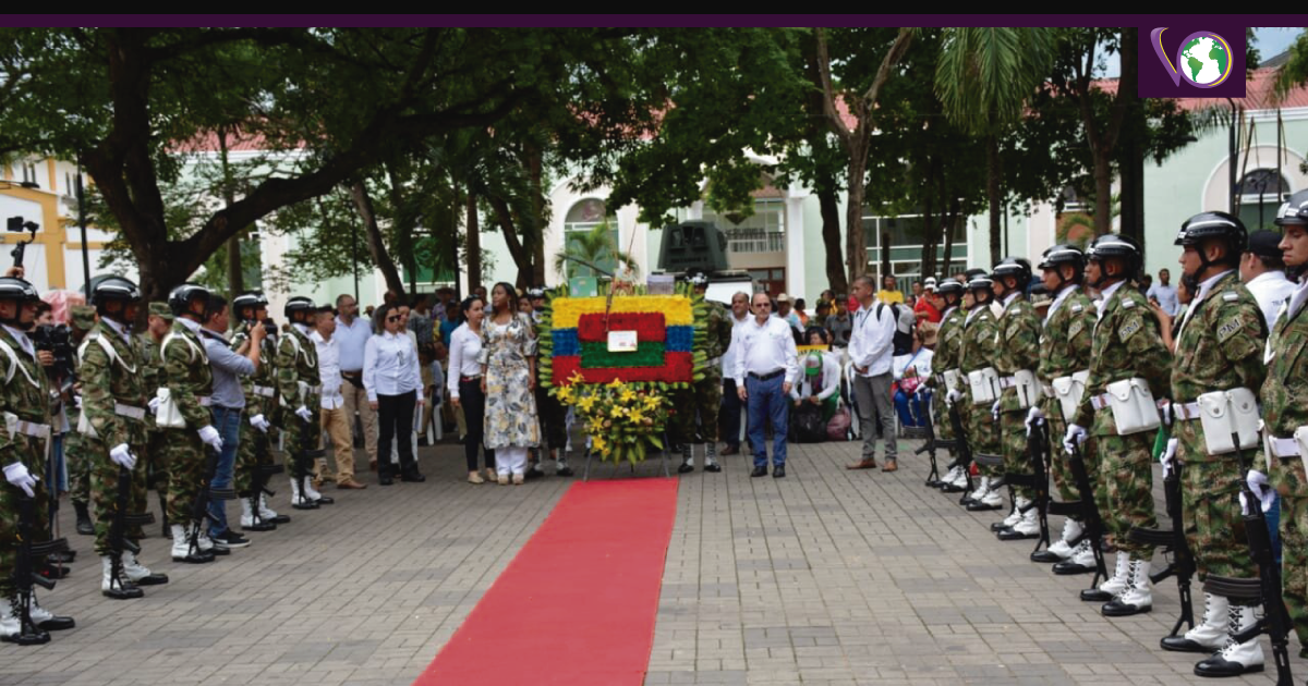
<path id="1" fill-rule="evenodd" d="M 742 457 L 681 477 L 646 683 L 1206 681 L 1194 656 L 1158 648 L 1177 614 L 1173 583 L 1152 614 L 1108 621 L 1075 600 L 1087 576 L 1053 576 L 1025 561 L 1028 542 L 988 532 L 995 514 L 923 487 L 923 459 L 846 472 L 855 452 L 791 446 L 785 480 L 749 478 Z M 272 504 L 294 521 L 212 564 L 173 563 L 166 540 L 146 538 L 143 561 L 171 583 L 143 600 L 103 598 L 92 538 L 71 533 L 81 557 L 41 597 L 77 629 L 42 647 L 0 644 L 0 685 L 412 683 L 573 481 L 472 486 L 456 446 L 421 455 L 425 483 L 382 489 L 365 474 L 368 490 L 328 486 L 336 504 L 313 512 L 286 506 L 280 480 Z M 657 461 L 636 470 L 658 473 Z M 568 570 L 540 580 L 566 583 Z M 519 655 L 565 640 L 559 627 Z M 1308 662 L 1291 644 L 1301 679 Z"/>

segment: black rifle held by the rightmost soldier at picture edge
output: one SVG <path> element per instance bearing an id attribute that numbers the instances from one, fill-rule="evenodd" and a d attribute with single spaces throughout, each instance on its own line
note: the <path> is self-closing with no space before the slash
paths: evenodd
<path id="1" fill-rule="evenodd" d="M 1290 613 L 1281 597 L 1281 566 L 1273 557 L 1271 533 L 1267 531 L 1267 517 L 1262 514 L 1262 500 L 1244 478 L 1244 474 L 1249 473 L 1249 465 L 1244 460 L 1239 434 L 1231 434 L 1231 442 L 1235 444 L 1235 455 L 1240 463 L 1240 493 L 1244 494 L 1244 502 L 1248 503 L 1248 514 L 1244 515 L 1244 534 L 1249 542 L 1253 563 L 1258 566 L 1258 578 L 1231 579 L 1210 574 L 1203 583 L 1203 589 L 1232 600 L 1261 598 L 1264 617 L 1232 638 L 1236 643 L 1245 643 L 1256 639 L 1258 634 L 1267 634 L 1271 639 L 1271 656 L 1277 662 L 1277 686 L 1292 686 L 1294 676 L 1290 673 L 1288 651 Z"/>

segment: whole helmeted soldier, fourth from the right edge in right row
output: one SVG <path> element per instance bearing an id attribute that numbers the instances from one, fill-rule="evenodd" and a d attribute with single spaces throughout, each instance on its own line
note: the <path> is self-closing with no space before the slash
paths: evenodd
<path id="1" fill-rule="evenodd" d="M 1027 419 L 1028 423 L 1044 419 L 1049 426 L 1050 436 L 1062 436 L 1067 431 L 1067 421 L 1063 417 L 1062 402 L 1054 392 L 1054 384 L 1057 380 L 1061 388 L 1070 389 L 1074 375 L 1079 375 L 1082 383 L 1090 376 L 1091 335 L 1095 331 L 1099 311 L 1080 290 L 1086 256 L 1076 246 L 1061 244 L 1046 250 L 1040 269 L 1044 270 L 1041 281 L 1045 290 L 1054 294 L 1054 301 L 1045 314 L 1041 328 L 1040 367 L 1036 371 L 1045 397 L 1039 408 L 1031 409 Z M 1075 400 L 1078 399 L 1070 399 L 1070 401 Z M 1065 503 L 1079 500 L 1080 493 L 1076 490 L 1067 460 L 1054 456 L 1050 461 L 1050 472 L 1059 499 Z M 1095 474 L 1096 465 L 1087 461 L 1086 470 Z M 1048 550 L 1033 553 L 1031 559 L 1054 563 L 1066 561 L 1056 570 L 1058 574 L 1093 571 L 1095 551 L 1091 549 L 1090 538 L 1086 538 L 1083 533 L 1083 523 L 1075 517 L 1067 517 L 1063 521 L 1062 537 Z"/>

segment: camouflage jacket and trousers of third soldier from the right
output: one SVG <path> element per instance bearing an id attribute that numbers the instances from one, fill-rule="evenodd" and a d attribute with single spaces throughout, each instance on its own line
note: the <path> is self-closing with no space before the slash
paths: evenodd
<path id="1" fill-rule="evenodd" d="M 1104 528 L 1117 547 L 1135 559 L 1150 559 L 1154 547 L 1131 542 L 1126 534 L 1133 527 L 1158 528 L 1152 472 L 1155 434 L 1141 431 L 1120 436 L 1113 412 L 1107 406 L 1096 412 L 1091 404 L 1108 384 L 1137 376 L 1148 382 L 1151 391 L 1158 389 L 1155 397 L 1168 388 L 1171 355 L 1159 335 L 1158 319 L 1131 281 L 1120 282 L 1103 304 L 1090 359 L 1086 397 L 1074 423 L 1086 427 L 1086 453 L 1099 461 L 1095 500 L 1101 504 Z"/>

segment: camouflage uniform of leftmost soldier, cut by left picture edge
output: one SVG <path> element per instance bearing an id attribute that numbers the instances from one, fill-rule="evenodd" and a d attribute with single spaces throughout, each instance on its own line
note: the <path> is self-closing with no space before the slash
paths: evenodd
<path id="1" fill-rule="evenodd" d="M 0 351 L 0 374 L 8 378 L 4 392 L 0 392 L 0 412 L 12 414 L 21 421 L 46 427 L 46 438 L 35 438 L 21 431 L 10 431 L 8 421 L 0 422 L 0 465 L 21 461 L 27 472 L 35 476 L 46 473 L 46 456 L 50 442 L 50 384 L 46 371 L 34 354 L 27 354 L 22 344 L 5 327 L 0 327 L 0 344 L 8 351 Z M 13 353 L 13 357 L 9 355 Z M 17 361 L 17 363 L 14 363 Z M 9 372 L 13 372 L 12 375 Z M 46 482 L 37 481 L 31 489 L 35 494 L 33 511 L 37 521 L 33 529 L 48 531 L 48 494 Z M 10 598 L 17 593 L 13 584 L 13 570 L 18 561 L 18 499 L 22 491 L 9 483 L 0 487 L 0 598 Z M 43 534 L 38 534 L 46 538 Z"/>

